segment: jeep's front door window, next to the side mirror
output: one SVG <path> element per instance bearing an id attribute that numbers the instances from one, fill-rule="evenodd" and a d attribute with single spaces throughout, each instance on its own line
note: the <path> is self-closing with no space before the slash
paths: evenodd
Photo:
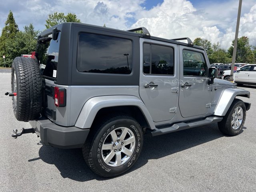
<path id="1" fill-rule="evenodd" d="M 206 63 L 202 53 L 183 50 L 183 75 L 206 76 Z"/>

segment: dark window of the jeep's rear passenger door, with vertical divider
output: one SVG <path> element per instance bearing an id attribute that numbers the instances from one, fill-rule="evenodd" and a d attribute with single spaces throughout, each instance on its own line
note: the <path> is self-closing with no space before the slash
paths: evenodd
<path id="1" fill-rule="evenodd" d="M 174 50 L 171 47 L 144 44 L 143 73 L 144 74 L 174 74 Z"/>

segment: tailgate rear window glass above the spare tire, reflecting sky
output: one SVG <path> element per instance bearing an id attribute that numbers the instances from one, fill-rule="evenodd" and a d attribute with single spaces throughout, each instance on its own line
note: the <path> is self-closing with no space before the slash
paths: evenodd
<path id="1" fill-rule="evenodd" d="M 52 34 L 44 37 L 44 41 L 38 42 L 37 50 L 41 75 L 56 78 L 58 56 L 60 48 L 60 32 L 58 39 L 52 40 Z"/>

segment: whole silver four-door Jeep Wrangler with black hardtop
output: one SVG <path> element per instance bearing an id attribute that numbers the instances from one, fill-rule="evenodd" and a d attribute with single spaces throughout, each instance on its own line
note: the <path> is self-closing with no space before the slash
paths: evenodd
<path id="1" fill-rule="evenodd" d="M 187 43 L 180 42 L 186 40 Z M 138 160 L 143 134 L 167 134 L 218 122 L 241 132 L 250 92 L 215 78 L 203 48 L 189 38 L 150 36 L 64 23 L 38 37 L 34 58 L 12 64 L 12 104 L 45 145 L 82 148 L 88 166 L 113 177 Z"/>

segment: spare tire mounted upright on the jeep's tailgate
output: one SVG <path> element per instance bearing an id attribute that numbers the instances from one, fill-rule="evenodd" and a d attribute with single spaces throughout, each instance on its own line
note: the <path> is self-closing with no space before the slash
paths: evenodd
<path id="1" fill-rule="evenodd" d="M 12 62 L 11 77 L 14 116 L 18 121 L 34 120 L 42 107 L 42 79 L 35 59 L 16 57 Z"/>

